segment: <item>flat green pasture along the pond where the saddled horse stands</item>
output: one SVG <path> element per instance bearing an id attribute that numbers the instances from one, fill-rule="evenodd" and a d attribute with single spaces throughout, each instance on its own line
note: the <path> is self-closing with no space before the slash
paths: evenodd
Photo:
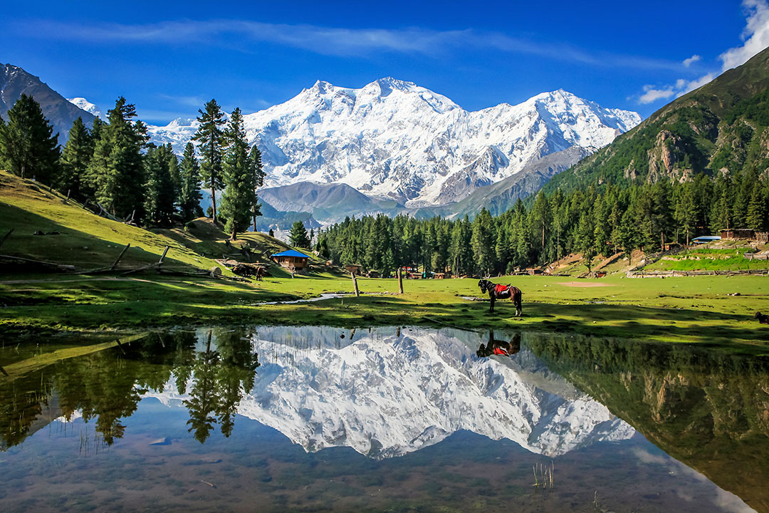
<path id="1" fill-rule="evenodd" d="M 243 284 L 156 275 L 6 278 L 0 279 L 0 331 L 7 333 L 175 325 L 434 325 L 644 338 L 769 354 L 769 326 L 754 319 L 756 311 L 769 312 L 769 280 L 761 276 L 497 278 L 523 291 L 521 318 L 514 317 L 510 301 L 498 301 L 494 314 L 488 313 L 474 279 L 404 280 L 399 295 L 397 280 L 358 278 L 359 298 L 264 305 L 324 292 L 351 294 L 351 279 L 298 275 Z"/>

